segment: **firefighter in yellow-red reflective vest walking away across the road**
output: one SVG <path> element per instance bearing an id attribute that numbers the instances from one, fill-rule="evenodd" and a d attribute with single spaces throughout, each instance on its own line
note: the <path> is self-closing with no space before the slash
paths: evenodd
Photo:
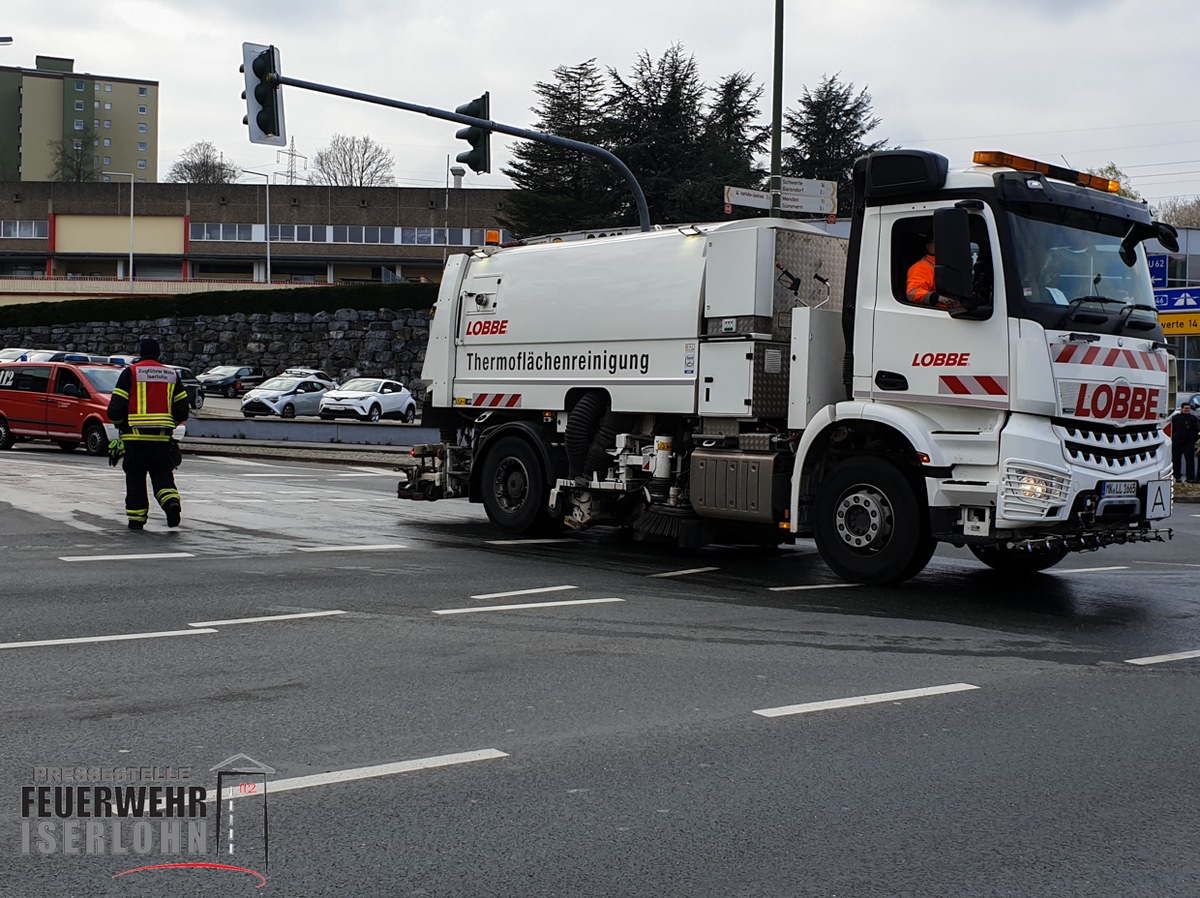
<path id="1" fill-rule="evenodd" d="M 167 514 L 167 526 L 178 527 L 182 503 L 175 489 L 178 447 L 172 442 L 175 427 L 187 420 L 187 391 L 179 372 L 160 361 L 158 341 L 145 337 L 138 345 L 140 359 L 116 379 L 108 403 L 108 419 L 120 437 L 109 444 L 109 462 L 124 459 L 125 515 L 131 531 L 139 531 L 150 516 L 146 475 L 154 497 Z"/>

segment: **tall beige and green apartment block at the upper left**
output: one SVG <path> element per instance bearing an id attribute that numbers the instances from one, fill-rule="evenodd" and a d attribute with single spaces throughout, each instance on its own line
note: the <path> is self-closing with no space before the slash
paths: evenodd
<path id="1" fill-rule="evenodd" d="M 158 180 L 158 82 L 76 72 L 60 56 L 0 66 L 0 181 L 108 180 L 103 172 Z"/>

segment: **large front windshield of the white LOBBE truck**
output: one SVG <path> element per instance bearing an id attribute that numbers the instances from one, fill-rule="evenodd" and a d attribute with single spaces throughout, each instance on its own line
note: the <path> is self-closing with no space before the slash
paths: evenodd
<path id="1" fill-rule="evenodd" d="M 1018 291 L 1013 313 L 1050 330 L 1130 334 L 1162 340 L 1141 244 L 1121 259 L 1129 222 L 1082 209 L 1018 204 L 1009 209 Z"/>

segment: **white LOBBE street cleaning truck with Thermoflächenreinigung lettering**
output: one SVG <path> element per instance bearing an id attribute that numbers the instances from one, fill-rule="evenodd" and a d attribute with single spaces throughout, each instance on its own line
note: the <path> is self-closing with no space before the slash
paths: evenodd
<path id="1" fill-rule="evenodd" d="M 848 239 L 752 218 L 455 256 L 422 371 L 443 442 L 414 448 L 398 493 L 482 502 L 514 534 L 811 537 L 865 583 L 938 541 L 1031 573 L 1163 540 L 1168 347 L 1142 244 L 1175 239 L 1115 190 L 887 150 L 856 166 Z"/>

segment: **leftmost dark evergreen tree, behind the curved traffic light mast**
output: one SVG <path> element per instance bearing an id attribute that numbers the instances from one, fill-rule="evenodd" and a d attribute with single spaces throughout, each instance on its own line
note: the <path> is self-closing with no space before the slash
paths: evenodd
<path id="1" fill-rule="evenodd" d="M 540 97 L 530 130 L 596 146 L 605 132 L 604 73 L 595 59 L 554 70 L 553 82 L 538 82 Z M 607 148 L 606 148 L 607 149 Z M 500 223 L 518 237 L 611 227 L 617 221 L 624 179 L 595 156 L 522 140 L 504 169 L 517 190 Z"/>

